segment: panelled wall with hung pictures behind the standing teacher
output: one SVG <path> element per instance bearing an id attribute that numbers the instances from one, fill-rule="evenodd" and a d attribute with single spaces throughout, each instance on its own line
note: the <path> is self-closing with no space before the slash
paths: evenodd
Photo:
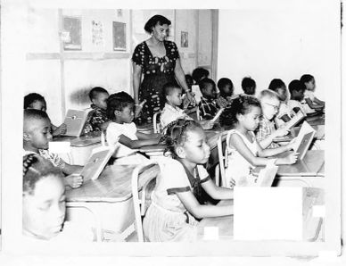
<path id="1" fill-rule="evenodd" d="M 198 16 L 198 12 L 203 15 Z M 177 44 L 185 73 L 192 73 L 197 65 L 199 49 L 196 46 L 197 20 L 200 17 L 199 21 L 205 25 L 205 21 L 210 21 L 210 10 L 30 8 L 24 94 L 37 92 L 45 96 L 47 112 L 56 125 L 62 122 L 69 108 L 84 109 L 89 106 L 87 93 L 91 87 L 102 86 L 110 93 L 124 90 L 132 94 L 132 52 L 137 44 L 150 37 L 144 31 L 144 24 L 152 15 L 158 13 L 172 21 L 169 40 Z M 61 47 L 59 32 L 62 31 L 61 17 L 65 15 L 81 19 L 81 51 L 63 51 Z M 102 45 L 92 42 L 91 21 L 103 24 Z M 126 51 L 112 50 L 112 21 L 127 24 Z M 181 31 L 188 32 L 188 47 L 181 47 Z M 210 30 L 203 33 L 203 38 L 208 38 L 208 34 L 211 34 Z M 209 43 L 202 46 L 202 52 L 208 49 L 211 50 Z"/>

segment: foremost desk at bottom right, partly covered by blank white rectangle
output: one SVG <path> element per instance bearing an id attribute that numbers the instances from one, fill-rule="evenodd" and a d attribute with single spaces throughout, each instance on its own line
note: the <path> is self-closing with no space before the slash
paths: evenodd
<path id="1" fill-rule="evenodd" d="M 321 240 L 323 231 L 323 219 L 312 215 L 314 205 L 324 205 L 324 191 L 320 188 L 303 187 L 303 202 L 302 202 L 302 232 L 303 241 Z M 219 205 L 231 205 L 233 201 L 222 200 Z M 255 221 L 254 221 L 255 222 Z M 234 238 L 234 216 L 228 215 L 223 217 L 204 218 L 198 224 L 198 240 L 206 240 L 208 237 L 205 231 L 208 228 L 218 228 L 218 234 L 214 237 L 216 241 L 229 241 Z M 268 240 L 267 240 L 268 241 Z"/>

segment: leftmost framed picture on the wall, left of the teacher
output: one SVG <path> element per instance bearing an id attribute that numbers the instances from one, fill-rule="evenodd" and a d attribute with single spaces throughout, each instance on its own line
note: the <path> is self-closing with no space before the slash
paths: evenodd
<path id="1" fill-rule="evenodd" d="M 82 49 L 82 26 L 78 17 L 64 16 L 63 21 L 63 49 L 74 51 Z"/>

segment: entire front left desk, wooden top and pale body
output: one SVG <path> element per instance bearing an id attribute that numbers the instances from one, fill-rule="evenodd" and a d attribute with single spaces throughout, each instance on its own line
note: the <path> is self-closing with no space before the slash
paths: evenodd
<path id="1" fill-rule="evenodd" d="M 102 232 L 105 231 L 113 239 L 125 240 L 135 230 L 131 193 L 131 174 L 135 167 L 136 165 L 107 166 L 98 179 L 67 190 L 68 220 L 85 222 L 90 220 L 91 213 L 98 237 L 103 236 Z M 138 187 L 142 187 L 146 180 L 158 173 L 158 166 L 144 170 L 140 173 Z"/>

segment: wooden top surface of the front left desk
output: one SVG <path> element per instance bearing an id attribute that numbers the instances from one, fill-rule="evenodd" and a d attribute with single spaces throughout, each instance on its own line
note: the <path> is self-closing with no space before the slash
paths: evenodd
<path id="1" fill-rule="evenodd" d="M 88 180 L 81 187 L 66 191 L 67 202 L 108 202 L 117 203 L 132 196 L 131 175 L 136 165 L 107 166 L 96 180 Z M 140 174 L 138 187 L 158 175 L 159 166 L 152 166 Z"/>

